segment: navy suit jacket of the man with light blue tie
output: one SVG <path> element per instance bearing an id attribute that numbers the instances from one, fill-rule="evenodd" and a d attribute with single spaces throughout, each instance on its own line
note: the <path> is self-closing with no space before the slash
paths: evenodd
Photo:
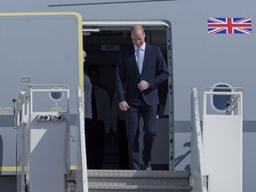
<path id="1" fill-rule="evenodd" d="M 134 55 L 134 46 L 124 48 L 119 53 L 116 64 L 116 90 L 119 102 L 125 100 L 130 105 L 138 97 L 140 90 L 137 84 L 143 79 L 150 85 L 142 92 L 143 99 L 149 106 L 159 104 L 157 87 L 168 79 L 168 75 L 163 53 L 158 46 L 146 44 L 141 75 Z"/>

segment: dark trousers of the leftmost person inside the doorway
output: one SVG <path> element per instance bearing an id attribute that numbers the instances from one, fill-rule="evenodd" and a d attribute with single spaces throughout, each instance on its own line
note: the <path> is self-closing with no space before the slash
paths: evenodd
<path id="1" fill-rule="evenodd" d="M 85 120 L 85 145 L 88 169 L 101 169 L 104 157 L 103 121 Z"/>

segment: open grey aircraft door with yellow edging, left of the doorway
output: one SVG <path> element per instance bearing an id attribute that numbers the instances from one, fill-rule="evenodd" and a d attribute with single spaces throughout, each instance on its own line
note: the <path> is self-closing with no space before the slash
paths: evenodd
<path id="1" fill-rule="evenodd" d="M 82 83 L 83 76 L 82 68 L 79 68 L 83 63 L 78 54 L 82 32 L 78 32 L 80 25 L 73 13 L 49 14 L 1 14 L 0 175 L 16 174 L 16 146 L 19 143 L 17 131 L 13 129 L 12 99 L 17 99 L 28 84 L 68 84 L 72 103 L 70 132 L 72 140 L 77 140 L 76 87 Z M 45 98 L 52 100 L 48 94 Z M 58 109 L 59 103 L 52 100 L 49 110 Z M 44 106 L 44 100 L 37 102 L 37 107 L 40 105 Z M 73 151 L 76 150 L 75 141 L 70 147 L 75 148 Z M 76 165 L 75 152 L 71 161 Z"/>

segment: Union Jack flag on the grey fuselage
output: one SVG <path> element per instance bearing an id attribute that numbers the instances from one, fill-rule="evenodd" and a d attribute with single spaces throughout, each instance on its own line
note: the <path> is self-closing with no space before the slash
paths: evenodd
<path id="1" fill-rule="evenodd" d="M 252 34 L 252 19 L 208 18 L 208 34 Z"/>

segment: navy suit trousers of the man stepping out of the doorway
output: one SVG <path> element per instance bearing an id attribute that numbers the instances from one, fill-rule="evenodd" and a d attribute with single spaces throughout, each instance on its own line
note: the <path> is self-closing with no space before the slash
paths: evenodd
<path id="1" fill-rule="evenodd" d="M 156 114 L 157 106 L 148 106 L 140 96 L 132 102 L 126 113 L 126 132 L 131 169 L 140 170 L 140 116 L 143 125 L 143 150 L 142 161 L 151 161 L 151 151 L 156 138 Z"/>

